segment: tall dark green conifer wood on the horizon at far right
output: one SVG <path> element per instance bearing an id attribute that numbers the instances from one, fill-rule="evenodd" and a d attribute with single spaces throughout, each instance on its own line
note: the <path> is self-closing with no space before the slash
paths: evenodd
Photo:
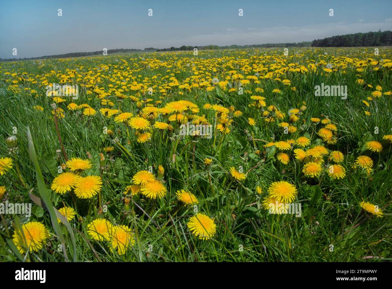
<path id="1" fill-rule="evenodd" d="M 315 39 L 314 47 L 352 47 L 352 46 L 390 46 L 392 45 L 392 31 L 354 33 L 337 35 L 324 39 Z"/>

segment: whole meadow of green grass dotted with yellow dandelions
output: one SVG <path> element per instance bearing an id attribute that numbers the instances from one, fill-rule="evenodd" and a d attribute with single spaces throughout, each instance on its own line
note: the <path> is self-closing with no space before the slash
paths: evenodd
<path id="1" fill-rule="evenodd" d="M 2 62 L 0 261 L 392 260 L 391 90 L 388 47 Z"/>

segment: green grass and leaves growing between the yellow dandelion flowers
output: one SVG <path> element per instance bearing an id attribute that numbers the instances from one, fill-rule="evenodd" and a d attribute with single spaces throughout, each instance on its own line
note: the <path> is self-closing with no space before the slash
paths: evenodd
<path id="1" fill-rule="evenodd" d="M 300 51 L 301 54 L 296 56 L 294 51 Z M 145 55 L 145 61 L 140 58 L 140 55 L 130 54 L 42 60 L 43 65 L 40 67 L 38 61 L 2 63 L 0 139 L 12 135 L 13 127 L 17 128 L 17 163 L 26 187 L 20 181 L 15 166 L 7 174 L 0 176 L 0 185 L 7 188 L 9 201 L 32 202 L 28 193 L 33 189 L 32 194 L 40 196 L 44 201 L 47 197 L 45 203 L 50 201 L 56 209 L 63 207 L 64 203 L 77 209 L 78 216 L 70 221 L 73 233 L 71 234 L 67 227 L 61 225 L 60 234 L 53 228 L 54 211 L 51 214 L 47 211 L 42 214 L 38 206 L 35 206 L 34 214 L 30 219 L 24 216 L 2 215 L 0 260 L 7 262 L 25 258 L 30 261 L 62 262 L 68 258 L 82 262 L 358 262 L 365 261 L 363 259 L 365 256 L 374 256 L 367 261 L 392 260 L 390 221 L 392 161 L 390 144 L 382 141 L 383 135 L 391 134 L 391 96 L 383 95 L 374 101 L 368 100 L 368 108 L 362 102 L 371 96 L 371 92 L 377 85 L 382 87 L 383 92 L 391 91 L 392 73 L 391 68 L 387 67 L 374 71 L 373 66 L 369 65 L 364 66 L 363 71 L 359 72 L 356 71 L 358 67 L 354 66 L 354 63 L 359 60 L 366 62 L 367 58 L 391 59 L 392 49 L 380 48 L 378 56 L 372 54 L 372 48 L 326 48 L 317 49 L 316 53 L 309 48 L 298 48 L 294 51 L 290 50 L 290 56 L 287 58 L 283 57 L 283 49 L 247 49 L 199 51 L 197 56 L 193 55 L 192 51 L 148 53 Z M 366 53 L 363 54 L 363 51 Z M 324 55 L 324 52 L 327 52 L 327 55 Z M 267 56 L 264 56 L 265 53 Z M 353 63 L 347 61 L 345 58 L 347 54 L 354 59 Z M 322 68 L 325 65 L 318 66 L 316 72 L 286 71 L 280 78 L 290 79 L 291 86 L 295 86 L 296 91 L 274 80 L 276 77 L 274 75 L 272 79 L 261 79 L 260 84 L 244 85 L 243 95 L 223 91 L 220 88 L 208 92 L 205 89 L 188 91 L 174 86 L 167 90 L 167 95 L 154 88 L 152 96 L 147 93 L 143 96 L 151 97 L 154 101 L 162 100 L 162 104 L 158 104 L 158 107 L 180 99 L 192 101 L 200 108 L 197 114 L 204 114 L 212 124 L 215 113 L 213 110 L 203 109 L 205 103 L 221 104 L 227 108 L 234 106 L 236 110 L 241 110 L 243 115 L 234 118 L 229 134 L 221 138 L 221 133 L 217 133 L 216 144 L 221 139 L 221 146 L 214 146 L 214 138 L 200 138 L 197 143 L 185 146 L 192 137 L 186 136 L 179 141 L 179 138 L 170 139 L 166 133 L 161 137 L 158 131 L 154 131 L 151 141 L 144 144 L 137 143 L 133 130 L 123 124 L 114 123 L 113 117 L 107 119 L 102 116 L 99 108 L 107 106 L 100 104 L 96 93 L 87 95 L 87 89 L 81 86 L 87 84 L 89 80 L 85 77 L 92 75 L 88 73 L 89 70 L 93 71 L 93 75 L 101 73 L 101 81 L 97 83 L 94 79 L 93 85 L 104 88 L 105 91 L 109 90 L 109 84 L 116 85 L 110 80 L 116 74 L 116 70 L 132 70 L 132 74 L 128 75 L 130 80 L 127 80 L 127 84 L 135 80 L 145 84 L 145 88 L 154 85 L 166 86 L 165 83 L 171 82 L 169 78 L 172 76 L 181 84 L 185 79 L 195 75 L 192 66 L 186 66 L 186 63 L 192 62 L 202 75 L 201 78 L 209 73 L 209 77 L 218 77 L 222 80 L 222 57 L 225 57 L 226 65 L 232 66 L 225 69 L 227 76 L 229 70 L 237 70 L 237 65 L 241 70 L 246 68 L 246 65 L 252 68 L 252 64 L 260 64 L 256 56 L 263 57 L 262 59 L 265 60 L 263 66 L 269 68 L 274 61 L 286 62 L 282 67 L 286 67 L 289 63 L 299 67 L 307 66 L 310 60 L 317 62 L 325 60 L 327 63 L 333 63 L 335 67 L 338 66 L 338 71 L 323 73 Z M 206 62 L 207 59 L 212 60 Z M 160 62 L 161 60 L 163 63 Z M 180 60 L 182 60 L 181 65 L 178 64 Z M 108 65 L 112 73 L 102 70 L 103 65 Z M 155 66 L 148 68 L 148 65 Z M 53 101 L 45 95 L 45 85 L 42 81 L 46 79 L 49 83 L 59 83 L 61 75 L 67 73 L 67 69 L 76 68 L 79 70 L 75 71 L 75 76 L 66 83 L 78 84 L 80 96 L 75 102 L 87 103 L 97 113 L 93 117 L 87 117 L 80 113 L 69 112 L 66 104 L 59 104 L 65 110 L 65 118 L 59 120 L 59 131 L 69 158 L 87 159 L 87 152 L 92 156 L 91 161 L 94 166 L 87 170 L 86 174 L 89 175 L 101 174 L 99 153 L 103 152 L 103 148 L 109 145 L 115 148 L 113 153 L 106 157 L 107 168 L 102 172 L 102 203 L 107 205 L 107 212 L 104 212 L 102 217 L 112 223 L 127 225 L 133 231 L 135 245 L 121 256 L 115 250 L 111 252 L 109 243 L 95 241 L 87 234 L 87 224 L 96 219 L 97 196 L 87 201 L 77 199 L 75 206 L 70 194 L 59 195 L 50 190 L 54 177 L 58 175 L 58 165 L 65 163 L 65 160 L 64 156 L 56 159 L 56 150 L 60 149 L 60 143 L 52 115 Z M 213 72 L 213 68 L 217 71 Z M 51 70 L 55 73 L 51 73 Z M 18 76 L 23 72 L 31 73 L 30 76 L 37 82 L 20 80 L 18 82 L 20 90 L 12 91 L 11 80 L 18 76 L 5 75 L 7 71 L 18 73 Z M 174 75 L 170 75 L 171 73 Z M 240 73 L 244 76 L 254 75 L 252 70 L 240 71 Z M 77 74 L 82 77 L 78 77 Z M 103 78 L 102 75 L 106 77 Z M 156 80 L 151 79 L 154 75 L 160 76 Z M 158 83 L 157 81 L 165 75 L 169 77 Z M 120 77 L 116 77 L 116 80 L 121 81 Z M 123 75 L 123 79 L 126 77 Z M 143 82 L 146 77 L 149 79 Z M 77 80 L 78 78 L 80 80 Z M 371 84 L 373 88 L 358 85 L 357 79 L 363 79 L 365 84 Z M 199 81 L 195 82 L 199 83 Z M 341 97 L 314 96 L 314 87 L 321 85 L 322 82 L 325 85 L 347 85 L 347 100 L 342 100 Z M 25 87 L 36 90 L 37 93 L 24 90 Z M 256 88 L 263 88 L 264 92 L 255 92 Z M 274 89 L 280 89 L 281 93 L 272 93 Z M 179 94 L 180 91 L 183 92 L 182 95 Z M 125 91 L 125 94 L 135 95 L 136 91 Z M 283 134 L 283 128 L 278 127 L 276 120 L 267 125 L 260 117 L 260 112 L 249 106 L 253 102 L 250 99 L 251 95 L 264 96 L 267 106 L 274 105 L 286 114 L 284 121 L 287 121 L 287 114 L 291 108 L 299 108 L 305 102 L 306 110 L 294 123 L 298 128 L 297 132 Z M 109 99 L 115 102 L 114 108 L 121 105 L 122 112 L 137 112 L 136 104 L 130 99 L 122 102 L 117 102 L 115 97 Z M 42 106 L 44 111 L 34 110 L 33 106 L 36 105 Z M 365 110 L 371 115 L 365 115 Z M 317 135 L 318 129 L 322 127 L 321 124 L 315 126 L 310 122 L 311 117 L 322 119 L 321 115 L 328 117 L 338 127 L 338 143 L 333 145 L 325 143 L 325 145 L 328 149 L 339 150 L 345 155 L 343 167 L 346 169 L 346 177 L 341 180 L 333 180 L 327 174 L 320 179 L 305 177 L 302 172 L 303 163 L 294 161 L 291 157 L 290 163 L 283 165 L 276 160 L 276 153 L 274 156 L 270 153 L 271 149 L 266 150 L 263 147 L 265 142 L 252 141 L 251 137 L 249 138 L 249 135 L 254 134 L 254 139 L 280 141 L 309 134 L 312 137 L 311 144 L 322 143 Z M 248 117 L 256 120 L 256 126 L 248 124 Z M 302 119 L 305 119 L 305 123 L 302 123 Z M 162 121 L 162 116 L 158 120 Z M 113 144 L 110 136 L 103 134 L 104 126 L 115 132 L 122 147 Z M 374 133 L 376 126 L 379 134 Z M 36 164 L 32 161 L 34 157 L 29 155 L 27 127 L 31 131 L 34 142 Z M 384 149 L 380 154 L 363 148 L 364 143 L 372 139 L 383 144 Z M 193 144 L 195 144 L 194 153 Z M 257 150 L 260 154 L 256 154 Z M 173 152 L 176 154 L 174 162 Z M 352 168 L 358 155 L 369 155 L 373 159 L 374 170 L 370 176 L 359 169 Z M 7 146 L 5 142 L 1 142 L 0 157 L 7 156 Z M 10 156 L 14 158 L 14 155 Z M 213 160 L 209 171 L 205 170 L 203 164 L 206 157 Z M 327 158 L 325 161 L 327 162 Z M 40 169 L 37 170 L 34 165 L 38 165 Z M 122 200 L 123 191 L 131 184 L 132 176 L 140 170 L 147 170 L 149 166 L 152 166 L 156 175 L 158 165 L 163 165 L 165 168 L 164 179 L 167 187 L 165 198 L 154 201 L 138 194 L 132 198 L 130 209 L 126 211 Z M 249 171 L 247 178 L 242 182 L 233 181 L 228 173 L 231 166 L 237 170 L 242 166 L 243 172 Z M 40 183 L 41 178 L 42 183 Z M 260 204 L 267 196 L 269 185 L 280 180 L 289 181 L 296 186 L 297 200 L 302 204 L 301 217 L 296 218 L 290 214 L 269 214 L 268 210 L 261 207 Z M 263 188 L 261 196 L 256 192 L 257 186 Z M 195 194 L 200 202 L 198 211 L 214 218 L 217 233 L 211 240 L 199 240 L 189 232 L 187 222 L 194 215 L 194 207 L 185 207 L 176 201 L 175 193 L 180 189 Z M 362 212 L 359 206 L 362 199 L 379 205 L 384 212 L 384 217 L 371 217 Z M 50 238 L 44 249 L 27 255 L 18 254 L 10 242 L 14 228 L 32 220 L 44 223 L 50 231 Z M 73 236 L 75 245 L 72 242 Z M 60 238 L 64 238 L 63 248 L 67 257 L 64 249 L 60 250 Z"/>

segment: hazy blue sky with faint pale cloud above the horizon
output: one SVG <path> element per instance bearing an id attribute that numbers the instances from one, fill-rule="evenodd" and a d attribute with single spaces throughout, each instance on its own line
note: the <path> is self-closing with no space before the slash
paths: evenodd
<path id="1" fill-rule="evenodd" d="M 312 41 L 392 30 L 391 7 L 390 0 L 0 0 L 0 57 L 15 57 L 13 48 L 24 58 L 103 48 Z"/>

